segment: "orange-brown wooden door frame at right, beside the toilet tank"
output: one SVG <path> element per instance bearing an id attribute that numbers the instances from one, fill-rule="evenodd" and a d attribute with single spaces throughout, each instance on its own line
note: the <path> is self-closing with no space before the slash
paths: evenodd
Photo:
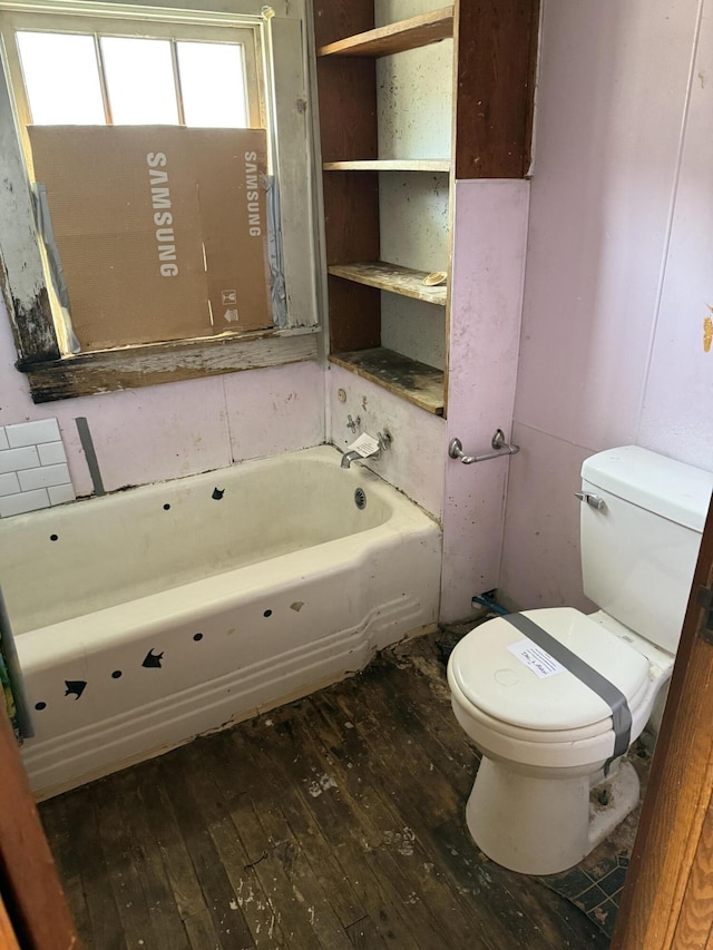
<path id="1" fill-rule="evenodd" d="M 713 948 L 713 613 L 697 599 L 712 585 L 713 505 L 612 950 Z"/>

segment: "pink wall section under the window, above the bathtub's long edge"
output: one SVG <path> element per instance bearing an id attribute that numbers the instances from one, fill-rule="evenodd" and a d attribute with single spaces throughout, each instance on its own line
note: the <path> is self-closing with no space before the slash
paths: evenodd
<path id="1" fill-rule="evenodd" d="M 91 492 L 77 417 L 89 423 L 107 491 L 324 441 L 323 372 L 316 363 L 35 405 L 16 359 L 0 303 L 0 425 L 57 418 L 77 494 Z"/>

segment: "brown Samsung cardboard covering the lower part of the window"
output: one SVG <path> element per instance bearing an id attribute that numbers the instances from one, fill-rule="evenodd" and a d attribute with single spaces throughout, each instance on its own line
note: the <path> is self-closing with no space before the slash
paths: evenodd
<path id="1" fill-rule="evenodd" d="M 29 136 L 84 351 L 273 325 L 263 129 Z"/>

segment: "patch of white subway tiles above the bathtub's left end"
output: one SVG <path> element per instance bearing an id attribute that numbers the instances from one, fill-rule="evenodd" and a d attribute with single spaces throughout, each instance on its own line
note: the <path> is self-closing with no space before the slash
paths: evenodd
<path id="1" fill-rule="evenodd" d="M 75 497 L 56 419 L 0 425 L 0 518 Z"/>

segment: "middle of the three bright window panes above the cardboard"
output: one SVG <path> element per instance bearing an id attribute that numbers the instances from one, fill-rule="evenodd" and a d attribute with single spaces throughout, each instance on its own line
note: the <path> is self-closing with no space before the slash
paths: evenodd
<path id="1" fill-rule="evenodd" d="M 168 40 L 101 37 L 115 125 L 176 125 L 176 84 Z"/>

